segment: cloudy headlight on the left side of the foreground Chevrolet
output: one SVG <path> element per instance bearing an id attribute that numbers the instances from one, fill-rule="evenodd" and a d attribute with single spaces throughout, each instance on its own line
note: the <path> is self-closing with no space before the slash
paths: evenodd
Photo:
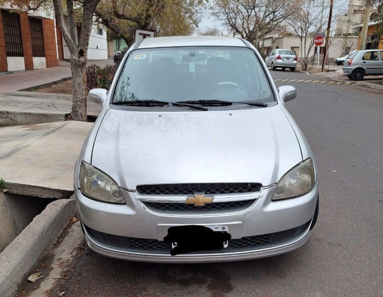
<path id="1" fill-rule="evenodd" d="M 84 161 L 80 165 L 80 190 L 85 196 L 98 201 L 125 204 L 116 182 L 104 172 Z"/>

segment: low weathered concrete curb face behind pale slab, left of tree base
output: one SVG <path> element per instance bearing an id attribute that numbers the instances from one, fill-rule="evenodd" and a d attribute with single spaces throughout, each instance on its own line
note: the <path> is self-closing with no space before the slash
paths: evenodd
<path id="1" fill-rule="evenodd" d="M 0 110 L 0 127 L 64 121 L 65 114 Z"/>

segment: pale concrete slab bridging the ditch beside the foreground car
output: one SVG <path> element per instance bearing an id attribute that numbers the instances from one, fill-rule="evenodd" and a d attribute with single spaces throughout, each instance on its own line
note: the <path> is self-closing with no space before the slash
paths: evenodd
<path id="1" fill-rule="evenodd" d="M 30 191 L 73 191 L 73 168 L 93 123 L 53 122 L 1 128 L 0 177 Z M 59 198 L 59 195 L 52 198 Z"/>

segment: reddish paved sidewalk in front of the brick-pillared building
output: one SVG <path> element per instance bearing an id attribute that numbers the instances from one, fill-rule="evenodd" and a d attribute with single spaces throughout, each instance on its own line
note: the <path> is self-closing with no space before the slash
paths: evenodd
<path id="1" fill-rule="evenodd" d="M 69 67 L 51 67 L 0 75 L 0 94 L 50 84 L 72 77 Z"/>

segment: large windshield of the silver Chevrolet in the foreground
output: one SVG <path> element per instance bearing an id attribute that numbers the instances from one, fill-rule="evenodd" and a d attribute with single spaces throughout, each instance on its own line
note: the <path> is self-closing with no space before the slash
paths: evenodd
<path id="1" fill-rule="evenodd" d="M 113 102 L 128 100 L 274 101 L 255 53 L 247 48 L 139 49 L 129 54 Z"/>

